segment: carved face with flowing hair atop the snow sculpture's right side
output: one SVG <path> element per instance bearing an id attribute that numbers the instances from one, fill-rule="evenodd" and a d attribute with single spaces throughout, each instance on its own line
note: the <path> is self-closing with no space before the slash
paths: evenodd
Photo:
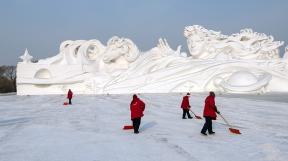
<path id="1" fill-rule="evenodd" d="M 184 35 L 193 58 L 211 59 L 225 56 L 231 59 L 273 59 L 279 58 L 278 48 L 283 42 L 272 36 L 243 29 L 231 36 L 207 30 L 202 26 L 185 27 Z"/>

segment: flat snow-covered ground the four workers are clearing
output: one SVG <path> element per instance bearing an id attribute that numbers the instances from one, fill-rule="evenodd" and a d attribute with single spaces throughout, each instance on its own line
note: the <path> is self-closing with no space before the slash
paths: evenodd
<path id="1" fill-rule="evenodd" d="M 288 95 L 216 97 L 215 135 L 203 120 L 182 120 L 180 94 L 141 94 L 146 102 L 140 134 L 130 124 L 131 95 L 0 96 L 0 161 L 287 161 Z M 205 95 L 190 98 L 202 114 Z"/>

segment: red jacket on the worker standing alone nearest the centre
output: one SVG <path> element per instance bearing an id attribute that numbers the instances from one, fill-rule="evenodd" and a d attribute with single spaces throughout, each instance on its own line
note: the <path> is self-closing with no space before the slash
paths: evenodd
<path id="1" fill-rule="evenodd" d="M 130 104 L 131 120 L 139 117 L 143 117 L 145 110 L 145 103 L 141 101 L 136 95 L 133 96 L 133 100 Z"/>

